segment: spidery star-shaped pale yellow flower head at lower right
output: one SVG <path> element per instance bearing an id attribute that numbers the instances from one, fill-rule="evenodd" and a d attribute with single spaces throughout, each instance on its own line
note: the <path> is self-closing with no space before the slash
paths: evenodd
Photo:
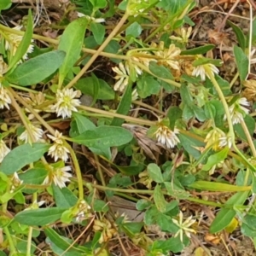
<path id="1" fill-rule="evenodd" d="M 196 233 L 195 230 L 189 228 L 192 224 L 195 223 L 195 219 L 192 219 L 192 216 L 187 218 L 183 222 L 183 212 L 179 212 L 179 220 L 172 218 L 172 221 L 174 224 L 176 224 L 179 227 L 179 230 L 177 230 L 177 233 L 175 234 L 175 237 L 178 235 L 180 236 L 180 240 L 183 241 L 183 232 L 190 238 L 190 233 Z"/>

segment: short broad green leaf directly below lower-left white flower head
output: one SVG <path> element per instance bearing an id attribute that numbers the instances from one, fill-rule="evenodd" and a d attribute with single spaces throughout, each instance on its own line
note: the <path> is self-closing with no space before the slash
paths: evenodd
<path id="1" fill-rule="evenodd" d="M 73 192 L 66 187 L 60 189 L 58 186 L 52 185 L 52 190 L 57 207 L 69 209 L 78 201 L 78 198 L 73 194 Z"/>

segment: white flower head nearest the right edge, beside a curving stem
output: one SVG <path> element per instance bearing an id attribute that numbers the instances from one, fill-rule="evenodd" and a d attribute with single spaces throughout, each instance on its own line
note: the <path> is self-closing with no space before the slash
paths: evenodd
<path id="1" fill-rule="evenodd" d="M 248 106 L 250 106 L 250 103 L 247 102 L 245 97 L 242 97 L 229 107 L 233 125 L 240 124 L 244 116 L 249 113 L 249 109 L 245 108 Z M 226 114 L 224 114 L 225 119 L 227 119 Z"/>

